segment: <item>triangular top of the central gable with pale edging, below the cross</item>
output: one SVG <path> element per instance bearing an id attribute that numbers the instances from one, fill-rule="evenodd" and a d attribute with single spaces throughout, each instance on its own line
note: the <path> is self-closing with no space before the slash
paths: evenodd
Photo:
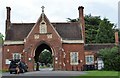
<path id="1" fill-rule="evenodd" d="M 39 36 L 54 34 L 53 37 L 61 38 L 43 11 L 36 24 L 33 26 L 32 30 L 28 34 L 27 38 L 29 38 L 30 36 L 33 37 L 33 35 L 35 34 Z"/>

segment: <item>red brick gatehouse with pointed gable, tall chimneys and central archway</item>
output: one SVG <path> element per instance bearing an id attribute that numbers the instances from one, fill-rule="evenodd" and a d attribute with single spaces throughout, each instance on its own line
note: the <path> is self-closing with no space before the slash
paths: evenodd
<path id="1" fill-rule="evenodd" d="M 106 46 L 85 44 L 84 7 L 80 6 L 79 22 L 51 23 L 42 13 L 36 23 L 11 23 L 10 11 L 7 7 L 6 38 L 3 46 L 3 69 L 8 69 L 10 59 L 21 59 L 30 71 L 38 62 L 40 53 L 47 49 L 53 57 L 54 70 L 82 70 L 89 64 L 85 58 L 92 57 L 90 64 L 95 64 L 95 52 Z"/>

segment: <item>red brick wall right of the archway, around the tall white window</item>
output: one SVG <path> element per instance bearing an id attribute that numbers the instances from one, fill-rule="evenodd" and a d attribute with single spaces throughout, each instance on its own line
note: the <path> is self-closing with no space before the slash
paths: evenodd
<path id="1" fill-rule="evenodd" d="M 66 53 L 65 58 L 63 61 L 65 66 L 63 66 L 64 70 L 82 70 L 84 65 L 84 44 L 63 44 L 64 52 Z M 71 65 L 70 64 L 70 52 L 78 52 L 78 60 L 80 63 L 78 65 Z"/>

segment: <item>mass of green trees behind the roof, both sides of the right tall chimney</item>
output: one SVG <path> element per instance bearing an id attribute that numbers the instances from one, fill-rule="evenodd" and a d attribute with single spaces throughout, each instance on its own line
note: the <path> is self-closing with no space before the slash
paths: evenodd
<path id="1" fill-rule="evenodd" d="M 115 25 L 100 16 L 85 15 L 86 43 L 114 43 Z M 77 22 L 79 19 L 67 18 L 68 22 Z"/>

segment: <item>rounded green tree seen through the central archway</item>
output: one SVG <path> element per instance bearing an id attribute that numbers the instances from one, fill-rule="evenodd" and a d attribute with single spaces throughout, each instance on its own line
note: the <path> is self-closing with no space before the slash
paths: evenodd
<path id="1" fill-rule="evenodd" d="M 48 50 L 42 51 L 39 56 L 39 61 L 41 63 L 45 63 L 45 65 L 47 65 L 48 63 L 52 64 L 52 54 Z"/>

